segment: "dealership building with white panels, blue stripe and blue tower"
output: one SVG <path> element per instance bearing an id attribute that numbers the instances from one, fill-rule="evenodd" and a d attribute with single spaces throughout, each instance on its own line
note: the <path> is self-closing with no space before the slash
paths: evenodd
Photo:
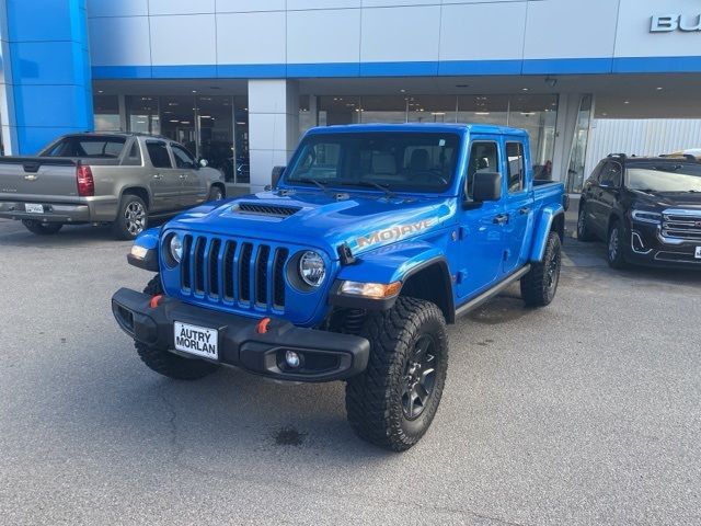
<path id="1" fill-rule="evenodd" d="M 0 0 L 0 39 L 5 155 L 160 134 L 242 190 L 311 126 L 458 122 L 576 193 L 596 119 L 701 118 L 698 0 Z"/>

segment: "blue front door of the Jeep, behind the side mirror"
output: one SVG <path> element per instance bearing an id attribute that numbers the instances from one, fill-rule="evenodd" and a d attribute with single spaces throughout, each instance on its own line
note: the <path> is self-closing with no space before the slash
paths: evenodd
<path id="1" fill-rule="evenodd" d="M 472 203 L 472 182 L 476 172 L 502 171 L 501 145 L 497 137 L 475 136 L 463 185 L 463 209 L 460 217 L 460 270 L 457 277 L 459 300 L 467 300 L 489 288 L 501 275 L 503 258 L 504 204 Z"/>

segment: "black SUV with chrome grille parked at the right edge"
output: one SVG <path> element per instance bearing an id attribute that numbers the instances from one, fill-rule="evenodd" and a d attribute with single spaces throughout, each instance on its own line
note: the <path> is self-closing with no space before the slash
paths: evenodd
<path id="1" fill-rule="evenodd" d="M 577 238 L 606 240 L 613 268 L 701 268 L 701 162 L 611 153 L 584 184 Z"/>

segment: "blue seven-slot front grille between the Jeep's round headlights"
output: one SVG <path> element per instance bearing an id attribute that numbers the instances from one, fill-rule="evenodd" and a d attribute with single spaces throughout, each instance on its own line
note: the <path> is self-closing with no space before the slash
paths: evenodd
<path id="1" fill-rule="evenodd" d="M 281 311 L 288 258 L 289 249 L 281 247 L 187 235 L 181 289 L 211 302 Z"/>

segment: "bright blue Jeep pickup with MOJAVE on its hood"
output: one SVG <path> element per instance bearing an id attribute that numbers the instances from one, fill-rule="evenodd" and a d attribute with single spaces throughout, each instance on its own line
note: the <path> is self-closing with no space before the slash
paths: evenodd
<path id="1" fill-rule="evenodd" d="M 345 380 L 354 431 L 407 449 L 440 402 L 446 323 L 517 279 L 527 305 L 555 295 L 563 186 L 530 167 L 519 129 L 311 129 L 269 190 L 140 235 L 127 259 L 158 274 L 113 313 L 171 378 Z"/>

